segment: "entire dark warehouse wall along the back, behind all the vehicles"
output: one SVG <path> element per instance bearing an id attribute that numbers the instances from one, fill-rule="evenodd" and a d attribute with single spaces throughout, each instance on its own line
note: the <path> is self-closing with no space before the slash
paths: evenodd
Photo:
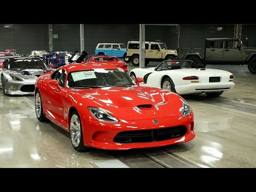
<path id="1" fill-rule="evenodd" d="M 207 37 L 234 37 L 234 25 L 180 25 L 179 47 L 204 47 Z M 146 25 L 146 41 L 159 39 L 170 49 L 178 47 L 176 26 Z M 47 24 L 0 24 L 0 51 L 16 49 L 18 54 L 28 54 L 31 50 L 49 51 Z M 248 38 L 249 46 L 256 47 L 256 25 L 243 25 L 242 40 Z M 53 24 L 55 51 L 80 51 L 79 24 Z M 129 39 L 139 39 L 139 24 L 84 24 L 85 51 L 94 54 L 98 43 L 125 43 Z"/>

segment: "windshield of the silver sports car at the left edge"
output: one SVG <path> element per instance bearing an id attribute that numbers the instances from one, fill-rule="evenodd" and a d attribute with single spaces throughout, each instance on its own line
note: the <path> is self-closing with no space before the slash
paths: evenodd
<path id="1" fill-rule="evenodd" d="M 9 62 L 6 60 L 4 63 L 6 69 L 31 69 L 31 68 L 47 68 L 43 60 L 31 58 L 11 58 Z"/>

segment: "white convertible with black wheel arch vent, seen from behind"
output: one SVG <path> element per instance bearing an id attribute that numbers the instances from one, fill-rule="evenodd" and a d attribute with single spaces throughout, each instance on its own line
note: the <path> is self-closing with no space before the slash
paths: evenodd
<path id="1" fill-rule="evenodd" d="M 205 69 L 204 65 L 193 66 L 190 60 L 163 61 L 157 67 L 135 68 L 130 77 L 144 79 L 145 86 L 156 86 L 178 94 L 205 93 L 218 97 L 235 86 L 233 74 L 225 70 Z"/>

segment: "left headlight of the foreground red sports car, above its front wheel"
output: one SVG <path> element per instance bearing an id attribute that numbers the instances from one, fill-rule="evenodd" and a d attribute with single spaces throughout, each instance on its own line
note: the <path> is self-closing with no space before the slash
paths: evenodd
<path id="1" fill-rule="evenodd" d="M 118 120 L 110 115 L 106 110 L 97 107 L 88 107 L 89 111 L 98 121 L 116 123 Z"/>

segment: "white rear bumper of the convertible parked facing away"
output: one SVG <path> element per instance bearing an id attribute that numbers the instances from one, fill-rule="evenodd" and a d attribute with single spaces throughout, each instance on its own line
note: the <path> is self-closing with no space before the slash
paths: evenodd
<path id="1" fill-rule="evenodd" d="M 188 84 L 188 85 L 176 85 L 175 90 L 178 94 L 194 94 L 194 93 L 210 93 L 220 92 L 232 89 L 235 83 L 205 83 L 205 84 Z"/>

